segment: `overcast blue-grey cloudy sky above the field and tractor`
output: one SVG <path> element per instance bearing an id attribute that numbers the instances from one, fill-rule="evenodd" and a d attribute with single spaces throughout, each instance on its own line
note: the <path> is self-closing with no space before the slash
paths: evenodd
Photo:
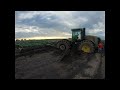
<path id="1" fill-rule="evenodd" d="M 71 29 L 105 39 L 104 11 L 15 11 L 15 39 L 71 38 Z"/>

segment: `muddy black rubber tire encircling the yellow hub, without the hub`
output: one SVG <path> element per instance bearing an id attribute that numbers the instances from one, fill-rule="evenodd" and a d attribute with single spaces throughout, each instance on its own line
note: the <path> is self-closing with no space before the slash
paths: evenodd
<path id="1" fill-rule="evenodd" d="M 83 51 L 82 48 L 85 45 L 87 45 L 90 48 L 89 52 L 86 52 L 86 53 L 93 53 L 95 51 L 95 45 L 94 45 L 94 43 L 91 42 L 91 41 L 89 41 L 89 40 L 83 40 L 83 41 L 81 41 L 79 43 L 79 45 L 78 45 L 78 50 L 79 51 Z M 83 51 L 83 52 L 85 52 L 85 51 Z"/>

